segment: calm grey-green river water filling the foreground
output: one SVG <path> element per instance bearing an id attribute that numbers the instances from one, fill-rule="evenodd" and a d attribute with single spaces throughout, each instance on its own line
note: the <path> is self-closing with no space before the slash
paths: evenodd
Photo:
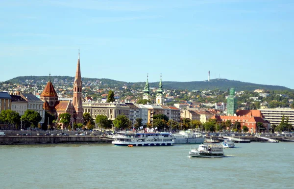
<path id="1" fill-rule="evenodd" d="M 236 144 L 211 159 L 189 158 L 190 147 L 0 146 L 0 188 L 294 188 L 294 143 Z"/>

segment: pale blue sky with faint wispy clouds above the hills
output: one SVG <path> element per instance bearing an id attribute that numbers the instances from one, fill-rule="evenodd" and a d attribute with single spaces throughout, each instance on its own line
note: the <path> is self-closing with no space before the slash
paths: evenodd
<path id="1" fill-rule="evenodd" d="M 210 78 L 294 89 L 293 0 L 4 0 L 0 81 Z"/>

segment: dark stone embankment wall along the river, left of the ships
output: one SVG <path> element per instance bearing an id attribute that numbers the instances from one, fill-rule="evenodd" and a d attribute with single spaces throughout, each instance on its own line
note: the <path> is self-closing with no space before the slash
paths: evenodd
<path id="1" fill-rule="evenodd" d="M 0 145 L 59 144 L 59 143 L 111 143 L 99 136 L 3 136 Z"/>

